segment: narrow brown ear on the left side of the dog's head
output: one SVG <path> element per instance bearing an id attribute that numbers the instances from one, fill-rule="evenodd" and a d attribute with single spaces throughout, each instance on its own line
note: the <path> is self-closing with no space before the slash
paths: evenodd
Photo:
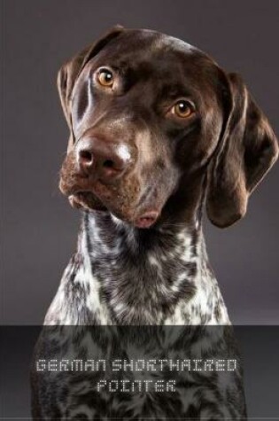
<path id="1" fill-rule="evenodd" d="M 90 44 L 59 69 L 57 80 L 58 92 L 63 112 L 70 129 L 72 129 L 70 101 L 74 88 L 74 82 L 77 80 L 82 68 L 86 65 L 86 63 L 88 63 L 89 59 L 96 56 L 97 53 L 101 51 L 107 43 L 120 35 L 124 30 L 124 27 L 121 27 L 120 25 L 112 27 L 108 32 L 105 33 L 105 35 L 99 38 L 97 42 Z"/>

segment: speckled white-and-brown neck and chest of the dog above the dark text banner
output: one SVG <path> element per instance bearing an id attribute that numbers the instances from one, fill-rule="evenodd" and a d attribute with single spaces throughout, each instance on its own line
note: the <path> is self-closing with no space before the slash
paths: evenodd
<path id="1" fill-rule="evenodd" d="M 144 230 L 84 212 L 46 324 L 229 324 L 200 220 Z"/>

